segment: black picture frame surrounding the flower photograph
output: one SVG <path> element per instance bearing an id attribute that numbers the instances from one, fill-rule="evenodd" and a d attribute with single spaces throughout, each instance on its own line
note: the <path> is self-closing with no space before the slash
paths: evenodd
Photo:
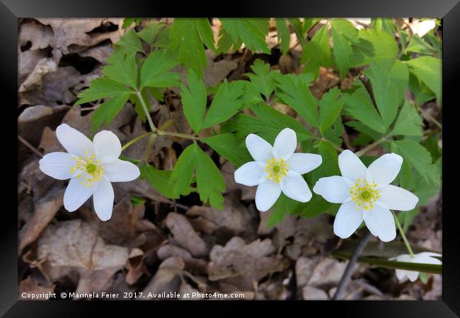
<path id="1" fill-rule="evenodd" d="M 280 1 L 234 0 L 226 3 L 210 2 L 198 5 L 195 1 L 145 1 L 145 0 L 1 0 L 0 4 L 0 78 L 2 114 L 1 146 L 3 172 L 1 177 L 17 179 L 17 168 L 13 170 L 11 153 L 17 148 L 17 122 L 13 123 L 17 105 L 17 40 L 18 18 L 25 17 L 203 17 L 203 16 L 283 16 L 283 17 L 436 17 L 442 18 L 443 31 L 443 280 L 442 300 L 439 301 L 339 301 L 339 302 L 108 302 L 108 301 L 26 301 L 18 300 L 17 264 L 17 200 L 16 186 L 11 181 L 2 182 L 1 230 L 0 230 L 0 314 L 4 317 L 81 317 L 94 316 L 95 310 L 110 307 L 118 313 L 127 311 L 130 316 L 138 310 L 149 307 L 151 314 L 159 314 L 163 308 L 168 314 L 182 307 L 195 307 L 200 314 L 206 312 L 218 316 L 234 316 L 244 310 L 265 310 L 280 314 L 329 314 L 338 312 L 345 317 L 459 317 L 460 315 L 460 256 L 459 231 L 456 227 L 458 209 L 453 206 L 458 186 L 453 183 L 458 175 L 454 163 L 455 109 L 459 107 L 456 99 L 460 77 L 460 4 L 456 0 L 310 0 Z M 15 80 L 16 79 L 16 80 Z M 457 104 L 457 105 L 456 105 Z M 447 108 L 446 108 L 447 107 Z M 17 110 L 17 107 L 16 107 Z M 447 114 L 447 115 L 446 115 Z M 17 111 L 16 111 L 17 116 Z M 11 119 L 10 119 L 11 118 Z M 16 131 L 15 131 L 16 127 Z M 447 147 L 446 147 L 447 145 Z M 16 151 L 17 154 L 17 151 Z M 16 160 L 17 163 L 17 160 Z M 11 167 L 11 168 L 8 168 Z M 6 173 L 8 172 L 8 173 Z M 447 173 L 446 173 L 447 172 Z M 452 183 L 452 187 L 449 185 Z M 449 209 L 450 207 L 450 209 Z M 231 304 L 231 305 L 229 305 Z M 236 306 L 238 305 L 238 306 Z M 198 306 L 200 308 L 198 308 Z M 243 306 L 243 308 L 238 308 Z M 225 308 L 225 309 L 224 309 Z M 194 310 L 193 308 L 188 309 Z M 321 310 L 321 311 L 320 311 Z M 244 313 L 244 312 L 243 312 Z"/>

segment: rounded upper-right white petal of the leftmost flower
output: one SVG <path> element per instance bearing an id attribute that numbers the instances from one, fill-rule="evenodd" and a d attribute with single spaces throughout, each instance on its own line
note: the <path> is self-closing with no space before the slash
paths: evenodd
<path id="1" fill-rule="evenodd" d="M 112 163 L 117 160 L 122 153 L 122 144 L 117 135 L 112 131 L 99 131 L 93 139 L 94 151 L 96 156 L 103 163 Z"/>

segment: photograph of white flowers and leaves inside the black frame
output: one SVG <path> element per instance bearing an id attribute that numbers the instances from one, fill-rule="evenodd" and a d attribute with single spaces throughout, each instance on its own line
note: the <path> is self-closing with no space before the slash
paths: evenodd
<path id="1" fill-rule="evenodd" d="M 442 300 L 439 18 L 19 18 L 18 300 Z"/>

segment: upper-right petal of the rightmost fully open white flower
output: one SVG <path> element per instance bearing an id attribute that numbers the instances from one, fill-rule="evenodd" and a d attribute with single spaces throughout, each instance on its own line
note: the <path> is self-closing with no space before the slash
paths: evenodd
<path id="1" fill-rule="evenodd" d="M 398 175 L 403 164 L 403 157 L 396 153 L 386 153 L 374 160 L 367 168 L 367 182 L 375 181 L 377 184 L 390 184 Z"/>

